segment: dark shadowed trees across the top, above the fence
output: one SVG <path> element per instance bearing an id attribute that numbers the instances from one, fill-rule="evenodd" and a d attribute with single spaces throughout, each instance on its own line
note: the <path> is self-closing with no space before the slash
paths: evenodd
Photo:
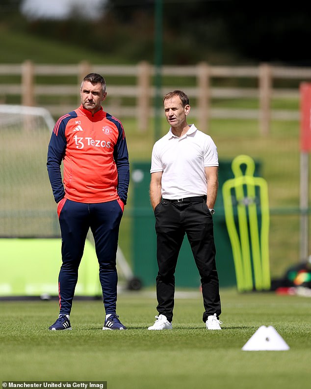
<path id="1" fill-rule="evenodd" d="M 67 43 L 123 62 L 155 61 L 155 0 L 103 2 L 98 20 L 73 12 L 67 20 L 26 20 L 21 0 L 2 0 L 0 29 Z M 310 66 L 310 5 L 271 8 L 268 2 L 163 0 L 163 63 Z M 61 58 L 59 58 L 61 62 Z"/>

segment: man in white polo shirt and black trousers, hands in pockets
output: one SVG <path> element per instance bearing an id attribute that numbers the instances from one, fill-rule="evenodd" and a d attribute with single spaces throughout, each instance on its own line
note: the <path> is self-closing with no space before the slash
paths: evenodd
<path id="1" fill-rule="evenodd" d="M 150 200 L 156 217 L 158 316 L 148 330 L 172 329 L 175 269 L 184 235 L 201 276 L 207 330 L 221 330 L 212 214 L 218 191 L 218 154 L 210 136 L 187 124 L 188 96 L 163 98 L 171 128 L 152 151 Z"/>

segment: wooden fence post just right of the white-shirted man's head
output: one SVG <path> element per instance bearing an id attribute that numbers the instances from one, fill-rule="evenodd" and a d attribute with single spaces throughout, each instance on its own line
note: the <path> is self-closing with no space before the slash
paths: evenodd
<path id="1" fill-rule="evenodd" d="M 209 66 L 205 62 L 198 64 L 198 127 L 202 132 L 208 131 L 209 120 Z"/>

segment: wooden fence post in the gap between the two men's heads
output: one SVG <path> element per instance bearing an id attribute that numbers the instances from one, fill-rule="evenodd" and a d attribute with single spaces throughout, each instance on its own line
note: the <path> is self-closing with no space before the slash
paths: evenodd
<path id="1" fill-rule="evenodd" d="M 138 65 L 137 72 L 137 117 L 138 129 L 141 132 L 147 131 L 148 119 L 150 116 L 150 74 L 151 67 L 148 62 L 142 61 Z"/>

